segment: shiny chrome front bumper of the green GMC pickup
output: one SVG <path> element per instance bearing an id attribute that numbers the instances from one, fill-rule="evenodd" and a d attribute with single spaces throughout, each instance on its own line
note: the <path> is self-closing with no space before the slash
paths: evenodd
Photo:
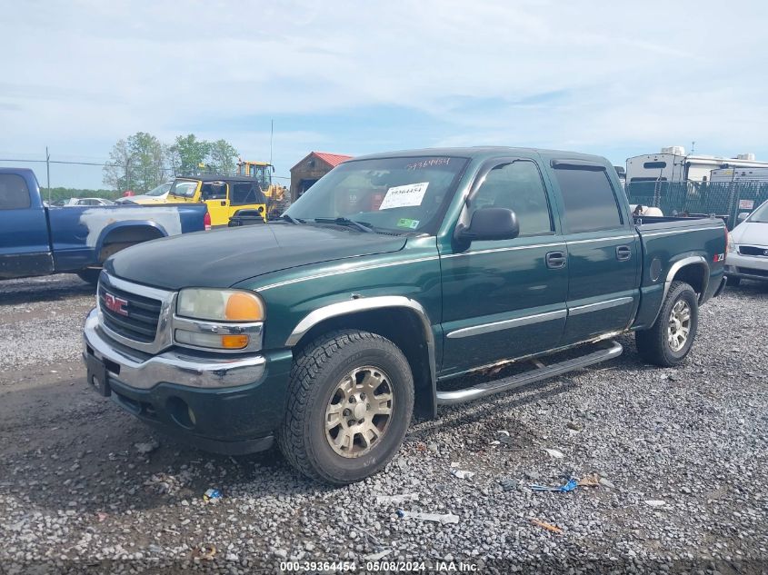
<path id="1" fill-rule="evenodd" d="M 135 389 L 158 383 L 197 389 L 221 389 L 259 382 L 266 360 L 261 355 L 211 358 L 210 355 L 170 350 L 158 355 L 137 352 L 107 338 L 99 329 L 98 311 L 91 310 L 83 331 L 83 358 L 93 354 L 105 363 L 110 378 Z"/>

